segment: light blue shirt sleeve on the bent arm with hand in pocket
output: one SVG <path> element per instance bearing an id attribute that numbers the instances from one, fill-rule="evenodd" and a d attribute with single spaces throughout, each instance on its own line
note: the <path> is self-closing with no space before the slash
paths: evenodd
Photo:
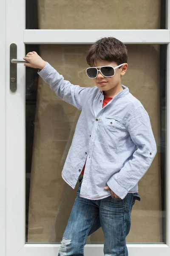
<path id="1" fill-rule="evenodd" d="M 136 151 L 107 182 L 111 190 L 122 199 L 147 172 L 156 155 L 156 142 L 147 112 L 139 107 L 130 116 L 127 131 L 136 145 Z"/>

